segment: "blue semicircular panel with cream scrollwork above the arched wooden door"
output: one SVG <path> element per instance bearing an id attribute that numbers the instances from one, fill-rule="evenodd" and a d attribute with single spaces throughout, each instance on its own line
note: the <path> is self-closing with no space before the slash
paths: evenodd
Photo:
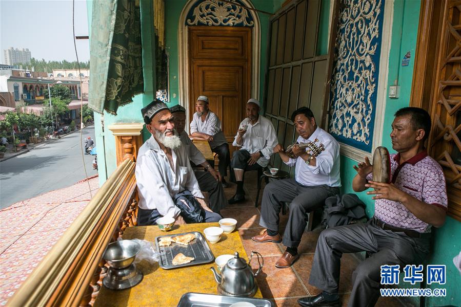
<path id="1" fill-rule="evenodd" d="M 253 27 L 253 17 L 239 0 L 199 0 L 189 10 L 186 26 Z"/>

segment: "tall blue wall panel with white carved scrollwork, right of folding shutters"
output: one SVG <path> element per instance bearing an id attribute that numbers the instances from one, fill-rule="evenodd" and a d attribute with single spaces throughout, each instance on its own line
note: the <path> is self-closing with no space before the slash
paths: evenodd
<path id="1" fill-rule="evenodd" d="M 331 80 L 330 133 L 371 152 L 383 30 L 383 0 L 342 0 Z"/>

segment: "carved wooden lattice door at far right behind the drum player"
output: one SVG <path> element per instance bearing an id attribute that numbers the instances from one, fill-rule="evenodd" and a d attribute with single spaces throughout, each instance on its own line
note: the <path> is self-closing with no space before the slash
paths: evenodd
<path id="1" fill-rule="evenodd" d="M 448 214 L 458 221 L 461 221 L 460 25 L 459 1 L 422 2 L 410 102 L 431 115 L 428 151 L 444 169 Z"/>

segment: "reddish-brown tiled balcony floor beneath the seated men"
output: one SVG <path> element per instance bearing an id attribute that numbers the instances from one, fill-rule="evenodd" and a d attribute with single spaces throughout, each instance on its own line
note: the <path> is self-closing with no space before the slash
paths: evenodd
<path id="1" fill-rule="evenodd" d="M 276 268 L 275 262 L 285 251 L 283 244 L 258 244 L 251 239 L 252 236 L 264 230 L 264 228 L 258 225 L 263 189 L 259 195 L 258 207 L 254 207 L 254 200 L 256 198 L 256 172 L 249 172 L 246 174 L 245 189 L 246 202 L 238 205 L 229 205 L 227 208 L 221 210 L 221 214 L 224 217 L 233 217 L 238 221 L 238 233 L 242 238 L 243 245 L 248 255 L 251 251 L 257 251 L 263 255 L 264 268 L 262 274 L 256 277 L 263 296 L 274 300 L 277 306 L 299 306 L 296 302 L 299 297 L 316 295 L 320 292 L 320 290 L 311 286 L 308 281 L 317 238 L 322 229 L 315 228 L 311 232 L 304 233 L 302 243 L 298 248 L 300 258 L 291 268 Z M 230 184 L 229 188 L 225 189 L 225 192 L 227 198 L 231 198 L 235 192 L 235 184 Z M 280 214 L 279 230 L 282 233 L 287 218 L 288 214 Z M 352 272 L 358 263 L 359 260 L 352 254 L 345 254 L 341 259 L 339 293 L 342 297 L 344 306 L 347 305 L 352 290 Z M 252 265 L 256 268 L 257 262 L 256 264 L 252 263 Z M 380 298 L 377 305 L 386 307 L 411 306 L 411 304 L 400 302 L 395 298 Z"/>

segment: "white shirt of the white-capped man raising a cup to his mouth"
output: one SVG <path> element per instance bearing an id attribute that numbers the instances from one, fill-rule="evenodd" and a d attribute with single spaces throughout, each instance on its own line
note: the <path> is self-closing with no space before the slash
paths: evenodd
<path id="1" fill-rule="evenodd" d="M 242 137 L 243 144 L 237 143 L 237 133 L 232 145 L 242 147 L 242 149 L 248 150 L 250 154 L 261 151 L 263 156 L 256 162 L 260 166 L 266 167 L 269 164 L 272 153 L 274 153 L 274 147 L 278 144 L 274 126 L 270 120 L 260 115 L 254 125 L 251 124 L 249 118 L 245 118 L 239 127 L 243 125 L 247 125 L 247 131 Z"/>

